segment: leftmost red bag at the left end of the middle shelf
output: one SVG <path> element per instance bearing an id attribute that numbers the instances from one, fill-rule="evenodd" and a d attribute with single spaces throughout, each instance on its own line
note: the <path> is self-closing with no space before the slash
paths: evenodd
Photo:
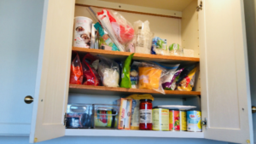
<path id="1" fill-rule="evenodd" d="M 82 82 L 83 82 L 83 70 L 82 70 L 79 54 L 73 51 L 69 84 L 82 84 Z"/>

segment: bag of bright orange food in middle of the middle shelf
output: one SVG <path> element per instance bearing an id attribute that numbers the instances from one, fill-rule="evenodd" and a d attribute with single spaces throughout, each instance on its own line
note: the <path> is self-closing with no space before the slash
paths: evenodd
<path id="1" fill-rule="evenodd" d="M 159 89 L 162 70 L 154 67 L 139 67 L 139 89 Z"/>

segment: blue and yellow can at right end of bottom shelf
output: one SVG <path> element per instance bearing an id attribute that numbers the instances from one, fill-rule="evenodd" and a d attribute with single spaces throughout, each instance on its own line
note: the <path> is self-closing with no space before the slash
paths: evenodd
<path id="1" fill-rule="evenodd" d="M 201 112 L 188 111 L 187 112 L 188 131 L 201 132 Z"/>

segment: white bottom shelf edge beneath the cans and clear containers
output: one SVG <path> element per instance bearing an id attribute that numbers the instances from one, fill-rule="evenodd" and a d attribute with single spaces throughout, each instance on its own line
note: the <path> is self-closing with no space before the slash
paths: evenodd
<path id="1" fill-rule="evenodd" d="M 188 131 L 154 131 L 154 130 L 91 130 L 67 129 L 69 136 L 122 136 L 122 137 L 176 137 L 176 138 L 204 138 L 202 132 Z"/>

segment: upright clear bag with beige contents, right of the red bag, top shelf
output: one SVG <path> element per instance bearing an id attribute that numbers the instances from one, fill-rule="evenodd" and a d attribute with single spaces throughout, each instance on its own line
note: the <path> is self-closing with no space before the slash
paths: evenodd
<path id="1" fill-rule="evenodd" d="M 150 32 L 149 22 L 138 20 L 134 22 L 135 27 L 135 52 L 142 54 L 151 53 L 152 38 L 154 33 Z"/>

